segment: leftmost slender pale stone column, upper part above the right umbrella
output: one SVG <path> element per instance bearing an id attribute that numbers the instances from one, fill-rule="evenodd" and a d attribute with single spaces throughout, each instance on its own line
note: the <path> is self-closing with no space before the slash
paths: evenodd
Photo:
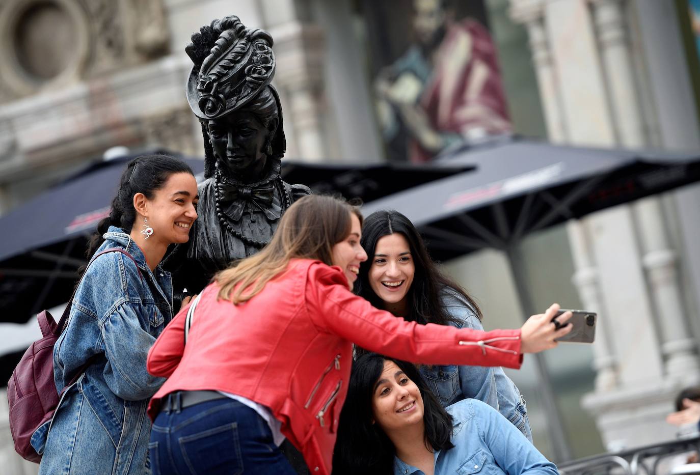
<path id="1" fill-rule="evenodd" d="M 561 107 L 559 83 L 547 38 L 544 3 L 541 0 L 511 0 L 510 16 L 514 22 L 524 24 L 528 31 L 540 97 L 545 109 L 547 137 L 552 142 L 566 142 L 568 140 L 566 118 Z"/>

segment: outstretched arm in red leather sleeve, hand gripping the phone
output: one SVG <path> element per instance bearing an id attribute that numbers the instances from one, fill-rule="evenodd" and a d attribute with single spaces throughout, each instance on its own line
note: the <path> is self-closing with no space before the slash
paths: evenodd
<path id="1" fill-rule="evenodd" d="M 521 330 L 479 332 L 443 325 L 418 325 L 375 309 L 347 289 L 337 267 L 315 264 L 309 267 L 307 309 L 316 326 L 353 341 L 367 350 L 427 364 L 475 364 L 519 368 L 521 353 L 554 348 L 554 339 L 570 331 L 549 322 L 559 309 L 531 317 Z M 566 322 L 563 315 L 558 319 Z M 522 344 L 521 344 L 522 336 Z"/>

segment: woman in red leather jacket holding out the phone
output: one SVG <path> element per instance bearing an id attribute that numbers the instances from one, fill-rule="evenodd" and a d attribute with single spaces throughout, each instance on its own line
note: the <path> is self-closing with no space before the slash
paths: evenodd
<path id="1" fill-rule="evenodd" d="M 286 438 L 312 474 L 329 474 L 352 343 L 426 364 L 519 368 L 522 353 L 570 330 L 559 306 L 518 330 L 418 325 L 353 295 L 362 217 L 311 195 L 291 206 L 260 253 L 217 274 L 160 335 L 148 371 L 168 379 L 148 407 L 154 474 L 293 474 Z"/>

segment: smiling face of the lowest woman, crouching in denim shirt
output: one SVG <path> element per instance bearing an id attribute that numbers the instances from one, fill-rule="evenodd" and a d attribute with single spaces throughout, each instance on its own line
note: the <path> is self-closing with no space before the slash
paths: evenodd
<path id="1" fill-rule="evenodd" d="M 408 426 L 423 425 L 423 397 L 418 386 L 391 360 L 374 383 L 372 416 L 391 439 Z"/>

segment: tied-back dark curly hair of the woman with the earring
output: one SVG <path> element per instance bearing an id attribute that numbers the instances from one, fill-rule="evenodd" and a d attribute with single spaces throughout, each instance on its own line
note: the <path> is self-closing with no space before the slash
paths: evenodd
<path id="1" fill-rule="evenodd" d="M 153 193 L 160 190 L 174 173 L 190 173 L 190 166 L 179 158 L 165 154 L 141 155 L 127 165 L 122 178 L 119 180 L 119 190 L 112 200 L 109 216 L 97 223 L 97 231 L 90 237 L 87 244 L 87 258 L 104 242 L 102 235 L 110 226 L 116 226 L 129 234 L 136 220 L 134 209 L 134 194 L 143 193 L 146 198 L 153 199 Z"/>

